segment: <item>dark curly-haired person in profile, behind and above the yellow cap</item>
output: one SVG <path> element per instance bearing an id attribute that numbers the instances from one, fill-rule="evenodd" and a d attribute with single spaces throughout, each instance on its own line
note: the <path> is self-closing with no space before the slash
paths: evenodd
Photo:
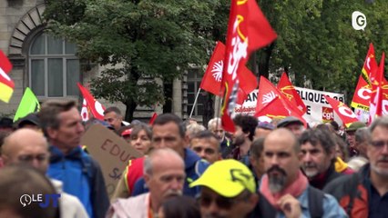
<path id="1" fill-rule="evenodd" d="M 249 165 L 250 159 L 248 153 L 250 151 L 250 144 L 252 144 L 253 141 L 253 136 L 255 135 L 258 120 L 254 116 L 238 114 L 234 117 L 233 123 L 236 131 L 232 136 L 235 148 L 231 153 L 231 157 Z"/>

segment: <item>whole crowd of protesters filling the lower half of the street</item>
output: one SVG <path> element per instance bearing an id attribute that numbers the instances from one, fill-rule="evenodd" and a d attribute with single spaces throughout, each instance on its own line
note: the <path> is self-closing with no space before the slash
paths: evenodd
<path id="1" fill-rule="evenodd" d="M 126 124 L 110 107 L 104 121 L 83 123 L 77 108 L 47 101 L 15 124 L 0 120 L 0 217 L 388 215 L 388 117 L 342 129 L 238 114 L 226 133 L 220 118 L 202 125 L 159 114 L 152 124 Z M 144 154 L 128 162 L 112 196 L 104 163 L 81 144 L 93 124 Z M 52 194 L 58 203 L 43 206 Z"/>

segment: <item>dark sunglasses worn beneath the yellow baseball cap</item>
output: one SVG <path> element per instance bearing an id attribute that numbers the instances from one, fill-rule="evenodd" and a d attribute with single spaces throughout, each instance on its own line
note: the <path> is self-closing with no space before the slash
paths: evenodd
<path id="1" fill-rule="evenodd" d="M 227 198 L 219 195 L 216 199 L 212 198 L 209 195 L 202 195 L 199 197 L 198 200 L 199 204 L 202 207 L 209 207 L 212 202 L 215 202 L 218 208 L 223 210 L 229 210 L 235 203 L 246 201 L 249 198 L 249 194 L 250 193 L 245 193 L 234 198 Z"/>

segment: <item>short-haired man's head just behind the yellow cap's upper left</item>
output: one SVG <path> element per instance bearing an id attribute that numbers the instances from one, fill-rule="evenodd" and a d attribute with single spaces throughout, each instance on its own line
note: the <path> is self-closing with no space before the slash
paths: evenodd
<path id="1" fill-rule="evenodd" d="M 221 159 L 219 139 L 209 130 L 194 134 L 190 139 L 190 148 L 209 163 Z"/>

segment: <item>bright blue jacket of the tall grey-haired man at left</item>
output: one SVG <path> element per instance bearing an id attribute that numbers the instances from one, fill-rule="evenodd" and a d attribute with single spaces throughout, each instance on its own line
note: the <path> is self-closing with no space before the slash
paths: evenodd
<path id="1" fill-rule="evenodd" d="M 89 217 L 105 217 L 109 199 L 99 164 L 80 147 L 69 154 L 56 146 L 50 146 L 49 151 L 48 176 L 62 181 L 64 192 L 77 196 Z"/>

